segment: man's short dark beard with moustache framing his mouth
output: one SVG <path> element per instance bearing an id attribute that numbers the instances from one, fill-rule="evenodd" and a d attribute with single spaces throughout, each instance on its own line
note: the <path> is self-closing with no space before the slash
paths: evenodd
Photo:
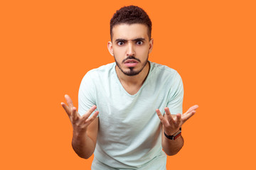
<path id="1" fill-rule="evenodd" d="M 122 61 L 122 63 L 125 62 L 125 60 L 129 60 L 129 59 L 133 59 L 133 60 L 137 60 L 138 62 L 141 62 L 139 59 L 133 57 L 133 56 L 129 56 L 127 57 L 126 59 L 124 59 Z M 114 61 L 116 62 L 117 64 L 117 67 L 122 71 L 122 73 L 124 73 L 125 75 L 129 76 L 129 77 L 132 77 L 132 76 L 135 76 L 137 74 L 139 74 L 140 72 L 142 72 L 142 69 L 144 69 L 144 67 L 146 66 L 146 63 L 149 62 L 149 55 L 146 57 L 146 61 L 144 63 L 142 63 L 142 68 L 139 69 L 139 70 L 134 70 L 134 67 L 128 67 L 129 70 L 128 71 L 124 71 L 121 67 L 120 67 L 120 64 L 117 62 L 116 58 L 114 57 Z"/>

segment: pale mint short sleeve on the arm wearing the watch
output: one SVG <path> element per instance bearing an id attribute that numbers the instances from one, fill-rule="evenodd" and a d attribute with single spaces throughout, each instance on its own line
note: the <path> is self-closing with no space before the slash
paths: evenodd
<path id="1" fill-rule="evenodd" d="M 174 78 L 171 81 L 171 87 L 169 89 L 169 96 L 167 106 L 172 115 L 177 113 L 182 114 L 183 106 L 183 82 L 178 72 L 175 73 Z"/>

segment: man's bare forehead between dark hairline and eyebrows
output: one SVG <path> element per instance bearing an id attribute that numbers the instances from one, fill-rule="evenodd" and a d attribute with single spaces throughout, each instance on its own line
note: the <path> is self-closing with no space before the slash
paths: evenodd
<path id="1" fill-rule="evenodd" d="M 141 23 L 133 24 L 118 24 L 112 28 L 113 40 L 124 39 L 124 40 L 133 40 L 136 38 L 149 39 L 148 28 Z"/>

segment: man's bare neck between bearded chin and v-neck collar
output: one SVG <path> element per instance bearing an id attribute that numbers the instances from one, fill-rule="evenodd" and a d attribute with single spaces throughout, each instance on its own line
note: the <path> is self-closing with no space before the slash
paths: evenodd
<path id="1" fill-rule="evenodd" d="M 121 83 L 125 83 L 127 85 L 133 85 L 133 86 L 142 86 L 147 75 L 149 74 L 149 67 L 150 67 L 149 62 L 147 62 L 144 69 L 142 69 L 142 72 L 140 72 L 135 76 L 125 75 L 117 66 L 115 67 L 115 69 L 117 72 L 117 77 L 119 81 L 121 81 Z"/>

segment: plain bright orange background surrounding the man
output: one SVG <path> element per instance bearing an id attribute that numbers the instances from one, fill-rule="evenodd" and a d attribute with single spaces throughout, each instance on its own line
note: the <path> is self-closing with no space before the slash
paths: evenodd
<path id="1" fill-rule="evenodd" d="M 255 1 L 1 1 L 0 169 L 90 169 L 60 106 L 114 62 L 110 18 L 134 4 L 153 23 L 152 62 L 183 78 L 185 145 L 167 169 L 256 169 Z"/>

